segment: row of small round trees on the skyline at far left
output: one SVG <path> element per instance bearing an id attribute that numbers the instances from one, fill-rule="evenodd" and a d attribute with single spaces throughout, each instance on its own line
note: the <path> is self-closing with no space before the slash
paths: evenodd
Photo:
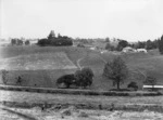
<path id="1" fill-rule="evenodd" d="M 30 44 L 30 41 L 29 40 L 21 40 L 21 39 L 11 39 L 11 44 L 12 45 L 29 45 Z"/>

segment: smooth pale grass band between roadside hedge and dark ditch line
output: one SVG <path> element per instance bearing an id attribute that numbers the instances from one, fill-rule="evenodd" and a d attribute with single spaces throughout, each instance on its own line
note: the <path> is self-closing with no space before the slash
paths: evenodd
<path id="1" fill-rule="evenodd" d="M 114 105 L 114 109 L 123 110 L 156 110 L 163 111 L 163 96 L 85 96 L 85 95 L 63 95 L 48 93 L 28 93 L 0 91 L 0 103 L 7 106 L 35 107 L 45 103 L 52 105 L 75 105 L 78 108 L 87 109 L 109 109 Z M 14 104 L 13 104 L 14 103 Z"/>

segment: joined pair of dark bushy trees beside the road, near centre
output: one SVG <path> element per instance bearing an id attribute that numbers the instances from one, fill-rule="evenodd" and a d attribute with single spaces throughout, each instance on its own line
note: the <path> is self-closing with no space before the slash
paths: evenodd
<path id="1" fill-rule="evenodd" d="M 65 88 L 70 88 L 71 85 L 76 86 L 90 86 L 93 80 L 93 72 L 90 68 L 83 68 L 77 70 L 72 75 L 64 75 L 57 80 L 57 85 L 64 84 Z"/>

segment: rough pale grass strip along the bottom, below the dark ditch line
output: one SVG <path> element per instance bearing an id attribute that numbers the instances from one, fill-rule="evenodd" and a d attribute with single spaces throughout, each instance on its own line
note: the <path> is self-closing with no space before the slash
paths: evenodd
<path id="1" fill-rule="evenodd" d="M 155 111 L 105 111 L 77 109 L 76 107 L 67 107 L 55 109 L 48 108 L 40 110 L 38 107 L 30 109 L 22 108 L 2 108 L 0 109 L 0 118 L 2 120 L 162 120 L 163 115 Z"/>

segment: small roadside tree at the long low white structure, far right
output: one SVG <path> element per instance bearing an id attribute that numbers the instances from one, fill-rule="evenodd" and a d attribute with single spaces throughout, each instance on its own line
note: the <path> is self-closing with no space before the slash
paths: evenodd
<path id="1" fill-rule="evenodd" d="M 156 78 L 148 76 L 143 83 L 146 83 L 148 85 L 152 85 L 152 91 L 153 91 L 154 90 L 154 85 L 156 84 Z"/>

